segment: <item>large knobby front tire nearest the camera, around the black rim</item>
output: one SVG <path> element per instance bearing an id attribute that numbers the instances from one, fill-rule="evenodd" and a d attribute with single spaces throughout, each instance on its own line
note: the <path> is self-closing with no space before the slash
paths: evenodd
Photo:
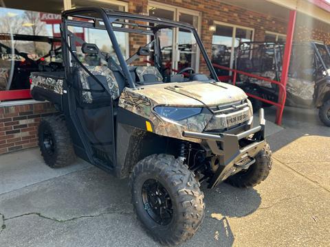
<path id="1" fill-rule="evenodd" d="M 153 219 L 153 211 L 148 209 L 151 204 L 146 204 L 142 198 L 146 193 L 146 181 L 151 180 L 157 180 L 159 187 L 168 192 L 173 215 L 166 225 Z M 204 217 L 203 192 L 199 189 L 195 174 L 179 158 L 167 154 L 147 156 L 133 168 L 130 185 L 135 213 L 156 241 L 180 244 L 197 232 Z"/>

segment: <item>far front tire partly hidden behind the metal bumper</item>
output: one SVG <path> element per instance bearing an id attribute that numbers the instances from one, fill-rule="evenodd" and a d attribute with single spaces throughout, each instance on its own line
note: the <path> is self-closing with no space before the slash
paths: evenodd
<path id="1" fill-rule="evenodd" d="M 256 154 L 255 159 L 256 162 L 248 170 L 230 176 L 225 182 L 239 188 L 259 185 L 259 183 L 267 178 L 272 169 L 272 151 L 270 150 L 270 145 L 266 144 L 265 148 Z"/>

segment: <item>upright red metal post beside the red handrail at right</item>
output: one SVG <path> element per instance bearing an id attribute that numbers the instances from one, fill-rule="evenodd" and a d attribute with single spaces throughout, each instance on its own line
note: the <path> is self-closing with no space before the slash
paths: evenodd
<path id="1" fill-rule="evenodd" d="M 289 66 L 290 66 L 290 57 L 292 51 L 292 41 L 294 40 L 294 26 L 296 24 L 296 10 L 290 10 L 289 13 L 289 23 L 287 23 L 287 39 L 285 40 L 285 49 L 283 55 L 283 64 L 282 64 L 282 75 L 281 75 L 281 84 L 287 88 L 287 74 L 289 73 Z M 282 91 L 278 93 L 278 103 L 283 102 L 283 95 Z M 284 99 L 285 103 L 285 99 Z M 278 108 L 276 111 L 276 124 L 282 124 L 282 115 L 283 115 L 284 108 Z"/>

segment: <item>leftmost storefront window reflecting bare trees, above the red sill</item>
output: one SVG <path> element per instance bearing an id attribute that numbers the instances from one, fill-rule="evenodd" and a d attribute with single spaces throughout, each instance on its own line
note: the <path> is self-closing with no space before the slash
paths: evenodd
<path id="1" fill-rule="evenodd" d="M 33 3 L 33 2 L 32 2 Z M 30 89 L 30 73 L 63 70 L 61 15 L 0 8 L 0 90 Z"/>

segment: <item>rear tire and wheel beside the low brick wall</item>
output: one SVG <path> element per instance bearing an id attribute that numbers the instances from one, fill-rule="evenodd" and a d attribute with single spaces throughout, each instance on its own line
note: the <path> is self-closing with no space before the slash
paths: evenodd
<path id="1" fill-rule="evenodd" d="M 41 155 L 48 166 L 64 167 L 75 161 L 76 154 L 63 115 L 42 119 L 38 134 Z"/>

